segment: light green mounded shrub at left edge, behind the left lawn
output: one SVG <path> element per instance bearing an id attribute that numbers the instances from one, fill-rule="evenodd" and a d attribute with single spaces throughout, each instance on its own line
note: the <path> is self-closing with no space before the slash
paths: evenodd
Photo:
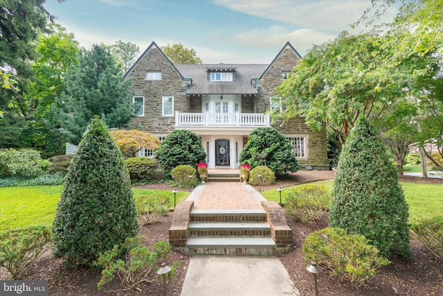
<path id="1" fill-rule="evenodd" d="M 36 177 L 42 175 L 49 162 L 32 149 L 0 149 L 0 176 Z"/>

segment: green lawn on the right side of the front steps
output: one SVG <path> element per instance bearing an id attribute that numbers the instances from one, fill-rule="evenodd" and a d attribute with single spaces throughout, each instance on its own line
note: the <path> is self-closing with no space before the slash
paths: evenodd
<path id="1" fill-rule="evenodd" d="M 332 180 L 312 182 L 325 186 L 332 190 Z M 443 214 L 443 184 L 419 184 L 412 182 L 400 182 L 404 190 L 404 197 L 409 206 L 409 222 L 415 223 L 424 218 L 433 218 Z M 286 201 L 287 192 L 291 187 L 284 188 L 282 191 L 282 202 Z M 273 189 L 261 192 L 264 198 L 274 202 L 280 202 L 278 191 Z"/>

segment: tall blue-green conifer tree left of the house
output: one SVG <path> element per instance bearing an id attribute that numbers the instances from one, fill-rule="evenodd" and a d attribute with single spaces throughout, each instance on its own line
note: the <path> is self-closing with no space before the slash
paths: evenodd
<path id="1" fill-rule="evenodd" d="M 52 105 L 53 118 L 69 132 L 62 137 L 77 145 L 90 119 L 98 115 L 108 128 L 120 128 L 132 119 L 130 80 L 122 79 L 121 68 L 111 53 L 98 45 L 80 50 L 78 67 L 66 74 L 66 94 Z"/>

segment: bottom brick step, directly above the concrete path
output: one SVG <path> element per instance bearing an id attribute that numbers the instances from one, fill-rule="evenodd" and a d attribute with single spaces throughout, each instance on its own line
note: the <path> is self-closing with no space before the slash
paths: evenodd
<path id="1" fill-rule="evenodd" d="M 275 243 L 262 237 L 190 237 L 186 249 L 187 254 L 270 256 Z"/>

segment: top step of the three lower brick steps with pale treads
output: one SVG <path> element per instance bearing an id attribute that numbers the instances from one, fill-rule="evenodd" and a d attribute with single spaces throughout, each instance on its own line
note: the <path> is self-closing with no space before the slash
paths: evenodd
<path id="1" fill-rule="evenodd" d="M 190 222 L 266 222 L 262 209 L 193 209 Z"/>

